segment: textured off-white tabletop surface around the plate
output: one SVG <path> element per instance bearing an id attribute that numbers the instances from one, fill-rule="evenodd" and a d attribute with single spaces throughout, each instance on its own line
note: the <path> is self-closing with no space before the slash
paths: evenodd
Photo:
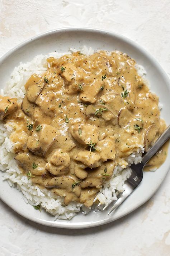
<path id="1" fill-rule="evenodd" d="M 38 33 L 59 27 L 95 27 L 138 42 L 170 75 L 169 13 L 169 0 L 0 0 L 0 57 Z M 167 256 L 169 184 L 170 173 L 156 194 L 133 213 L 84 230 L 32 223 L 0 201 L 0 256 Z"/>

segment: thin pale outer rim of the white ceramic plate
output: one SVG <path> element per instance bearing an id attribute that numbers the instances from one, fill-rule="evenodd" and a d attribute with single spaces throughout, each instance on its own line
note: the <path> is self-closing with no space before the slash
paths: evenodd
<path id="1" fill-rule="evenodd" d="M 156 60 L 155 57 L 153 57 L 147 50 L 145 50 L 145 48 L 143 48 L 143 46 L 137 44 L 136 42 L 134 42 L 133 40 L 129 39 L 128 37 L 124 36 L 124 35 L 121 35 L 119 33 L 116 33 L 116 32 L 113 32 L 113 31 L 108 31 L 108 30 L 100 30 L 100 29 L 97 29 L 97 28 L 86 28 L 86 27 L 64 27 L 64 28 L 57 28 L 57 29 L 54 29 L 54 30 L 49 30 L 49 31 L 46 31 L 44 33 L 40 33 L 36 36 L 33 36 L 33 37 L 30 37 L 29 39 L 27 40 L 24 40 L 23 42 L 21 42 L 20 44 L 14 46 L 12 49 L 10 49 L 9 51 L 7 51 L 1 58 L 0 58 L 0 65 L 3 64 L 3 61 L 8 58 L 11 54 L 13 54 L 16 50 L 22 48 L 23 46 L 29 44 L 30 42 L 32 41 L 35 41 L 37 39 L 40 39 L 42 37 L 45 37 L 45 36 L 50 36 L 51 34 L 55 34 L 57 32 L 94 32 L 94 33 L 101 33 L 101 34 L 108 34 L 112 37 L 116 37 L 118 38 L 119 40 L 122 40 L 130 45 L 132 45 L 134 48 L 136 48 L 137 50 L 139 50 L 141 53 L 143 53 L 144 55 L 147 56 L 147 58 L 151 61 L 151 62 L 154 62 L 155 66 L 161 71 L 161 74 L 162 76 L 164 77 L 164 79 L 167 81 L 167 85 L 169 86 L 169 89 L 170 89 L 170 83 L 169 83 L 169 77 L 167 75 L 167 73 L 164 71 L 164 69 L 161 67 L 161 65 L 159 64 L 159 62 Z M 158 185 L 157 185 L 157 188 L 152 191 L 152 193 L 149 194 L 149 196 L 145 197 L 145 200 L 143 200 L 142 202 L 138 202 L 136 204 L 135 207 L 133 207 L 132 210 L 127 210 L 125 211 L 121 217 L 117 217 L 115 218 L 114 220 L 112 218 L 110 219 L 106 219 L 106 220 L 98 220 L 98 221 L 93 221 L 93 223 L 89 222 L 89 223 L 78 223 L 78 224 L 75 224 L 75 223 L 68 223 L 68 220 L 63 220 L 62 223 L 56 223 L 55 221 L 47 221 L 47 220 L 42 220 L 42 219 L 38 219 L 37 217 L 30 217 L 29 214 L 22 214 L 22 211 L 19 211 L 17 209 L 15 209 L 13 206 L 11 206 L 9 203 L 5 202 L 3 198 L 1 198 L 1 195 L 0 195 L 0 199 L 6 204 L 8 205 L 10 208 L 12 208 L 15 212 L 17 212 L 19 215 L 31 220 L 31 221 L 34 221 L 36 223 L 39 223 L 39 224 L 42 224 L 42 225 L 46 225 L 46 226 L 53 226 L 53 227 L 56 227 L 56 228 L 70 228 L 70 229 L 80 229 L 80 228 L 89 228 L 89 227 L 94 227 L 94 226 L 99 226 L 99 225 L 103 225 L 103 224 L 107 224 L 107 223 L 110 223 L 112 221 L 115 221 L 119 218 L 122 218 L 123 216 L 129 214 L 130 212 L 136 210 L 138 207 L 142 206 L 146 201 L 148 201 L 148 199 L 150 199 L 154 193 L 156 193 L 156 191 L 159 189 L 162 181 L 165 179 L 168 171 L 170 169 L 170 166 L 169 168 L 167 168 L 167 171 L 165 172 L 164 176 L 162 178 L 160 178 L 159 182 L 158 182 Z M 67 221 L 67 222 L 66 222 Z"/>

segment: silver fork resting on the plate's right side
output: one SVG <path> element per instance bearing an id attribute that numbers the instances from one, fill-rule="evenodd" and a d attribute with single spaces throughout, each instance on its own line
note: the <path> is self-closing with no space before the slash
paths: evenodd
<path id="1" fill-rule="evenodd" d="M 162 147 L 162 145 L 170 138 L 170 126 L 167 127 L 167 129 L 162 133 L 162 135 L 156 140 L 153 147 L 142 157 L 141 163 L 138 163 L 137 165 L 132 164 L 131 170 L 131 176 L 125 181 L 123 187 L 124 192 L 117 194 L 117 200 L 115 200 L 114 205 L 109 210 L 107 215 L 110 214 L 115 208 L 117 208 L 123 201 L 136 189 L 136 187 L 141 183 L 143 178 L 143 167 L 146 165 L 146 163 L 150 160 L 152 156 Z M 103 211 L 112 203 L 113 201 L 107 203 Z M 100 203 L 99 203 L 100 205 Z"/>

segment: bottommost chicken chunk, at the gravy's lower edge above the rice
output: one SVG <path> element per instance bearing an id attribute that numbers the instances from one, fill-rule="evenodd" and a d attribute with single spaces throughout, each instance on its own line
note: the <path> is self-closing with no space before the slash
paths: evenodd
<path id="1" fill-rule="evenodd" d="M 84 203 L 86 207 L 93 205 L 93 200 L 96 196 L 96 193 L 99 190 L 97 188 L 84 188 L 81 190 L 80 202 Z"/>

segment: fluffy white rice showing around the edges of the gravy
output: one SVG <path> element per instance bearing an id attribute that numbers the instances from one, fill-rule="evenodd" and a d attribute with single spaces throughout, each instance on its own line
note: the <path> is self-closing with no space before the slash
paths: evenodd
<path id="1" fill-rule="evenodd" d="M 24 84 L 28 78 L 33 74 L 41 74 L 46 71 L 46 59 L 50 56 L 55 58 L 61 57 L 63 54 L 70 54 L 75 49 L 70 49 L 67 53 L 49 53 L 47 55 L 38 55 L 31 62 L 20 62 L 18 67 L 15 67 L 8 81 L 6 88 L 1 89 L 0 94 L 10 97 L 17 97 L 18 102 L 22 102 L 24 98 L 25 88 Z M 93 50 L 84 47 L 81 52 L 86 55 L 93 54 Z M 140 76 L 145 76 L 145 69 L 136 65 Z M 14 157 L 13 145 L 9 139 L 13 131 L 13 123 L 3 124 L 0 123 L 0 170 L 3 171 L 3 179 L 7 180 L 11 187 L 16 187 L 23 193 L 23 198 L 26 203 L 31 205 L 41 205 L 47 212 L 55 216 L 55 219 L 71 219 L 77 212 L 84 212 L 88 214 L 91 210 L 99 210 L 102 204 L 106 204 L 114 199 L 117 199 L 116 192 L 123 192 L 123 184 L 129 178 L 131 169 L 129 166 L 132 163 L 141 162 L 141 155 L 144 152 L 143 145 L 138 145 L 137 152 L 134 152 L 127 159 L 122 160 L 122 164 L 114 168 L 113 176 L 110 180 L 106 181 L 103 188 L 100 189 L 99 194 L 96 196 L 101 203 L 100 206 L 85 207 L 84 205 L 76 202 L 71 202 L 68 206 L 63 204 L 63 198 L 58 196 L 54 197 L 47 189 L 40 189 L 37 185 L 32 184 L 31 179 L 28 180 L 18 168 Z M 122 168 L 124 161 L 128 162 L 126 168 Z M 122 167 L 121 167 L 122 166 Z"/>

